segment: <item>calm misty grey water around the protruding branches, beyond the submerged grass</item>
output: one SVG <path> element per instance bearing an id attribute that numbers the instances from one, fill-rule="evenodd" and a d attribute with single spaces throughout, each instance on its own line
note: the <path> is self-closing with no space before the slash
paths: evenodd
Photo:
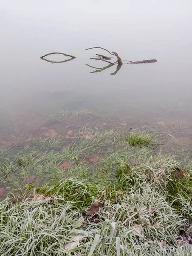
<path id="1" fill-rule="evenodd" d="M 59 109 L 88 108 L 146 122 L 192 125 L 190 0 L 4 1 L 0 9 L 0 145 L 43 124 Z M 118 52 L 124 64 L 101 73 L 89 58 Z M 76 59 L 51 64 L 48 52 Z M 52 61 L 63 57 L 51 56 Z M 124 63 L 127 63 L 126 61 Z M 12 136 L 12 137 L 11 137 Z"/>

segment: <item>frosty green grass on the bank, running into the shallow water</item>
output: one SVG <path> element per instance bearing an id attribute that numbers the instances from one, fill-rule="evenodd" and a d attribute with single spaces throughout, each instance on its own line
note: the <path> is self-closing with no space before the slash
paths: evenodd
<path id="1" fill-rule="evenodd" d="M 191 255 L 178 240 L 192 221 L 192 161 L 154 153 L 160 140 L 147 131 L 119 138 L 85 128 L 75 137 L 65 150 L 59 138 L 0 148 L 0 185 L 14 197 L 0 204 L 1 255 Z M 57 169 L 63 161 L 72 168 Z M 86 215 L 94 201 L 104 203 L 96 222 Z"/>

